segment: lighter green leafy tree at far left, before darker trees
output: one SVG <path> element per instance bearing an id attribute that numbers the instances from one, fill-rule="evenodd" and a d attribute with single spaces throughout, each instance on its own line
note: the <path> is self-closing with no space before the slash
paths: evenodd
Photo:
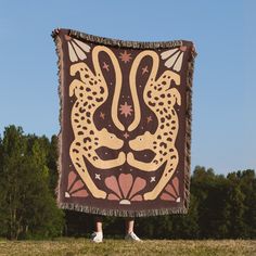
<path id="1" fill-rule="evenodd" d="M 1 226 L 9 239 L 61 234 L 63 213 L 48 188 L 46 139 L 5 128 L 1 150 Z"/>

